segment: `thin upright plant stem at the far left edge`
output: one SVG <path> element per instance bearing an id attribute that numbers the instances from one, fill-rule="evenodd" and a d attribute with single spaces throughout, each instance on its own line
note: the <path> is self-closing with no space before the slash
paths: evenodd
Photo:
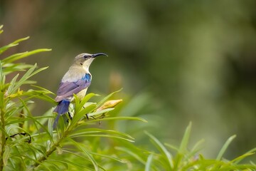
<path id="1" fill-rule="evenodd" d="M 4 148 L 6 144 L 6 138 L 5 138 L 5 120 L 4 120 L 4 110 L 1 108 L 1 153 L 0 153 L 0 171 L 4 169 Z"/>

